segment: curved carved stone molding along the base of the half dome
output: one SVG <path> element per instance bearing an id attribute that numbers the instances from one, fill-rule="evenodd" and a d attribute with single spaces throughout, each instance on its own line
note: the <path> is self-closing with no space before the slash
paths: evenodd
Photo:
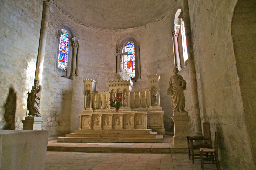
<path id="1" fill-rule="evenodd" d="M 43 1 L 52 1 L 52 0 L 43 0 Z M 81 21 L 79 21 L 78 19 L 76 19 L 74 16 L 70 15 L 69 13 L 67 13 L 66 11 L 64 11 L 60 5 L 57 4 L 57 2 L 53 1 L 53 5 L 58 8 L 60 10 L 60 12 L 62 12 L 64 15 L 66 15 L 69 19 L 73 20 L 74 22 L 78 23 L 79 25 L 82 25 L 84 27 L 87 27 L 89 29 L 93 29 L 93 30 L 97 30 L 97 31 L 102 31 L 102 32 L 125 32 L 125 31 L 132 31 L 132 30 L 137 30 L 137 29 L 142 29 L 142 28 L 146 28 L 149 27 L 159 21 L 161 21 L 162 19 L 164 19 L 172 10 L 173 8 L 176 6 L 178 0 L 175 0 L 173 5 L 168 9 L 168 11 L 166 13 L 164 13 L 162 16 L 160 16 L 160 18 L 156 19 L 155 21 L 152 21 L 146 25 L 142 25 L 139 27 L 133 27 L 133 28 L 126 28 L 126 29 L 103 29 L 103 28 L 97 28 L 97 27 L 93 27 L 90 25 L 87 25 L 85 23 L 82 23 Z"/>

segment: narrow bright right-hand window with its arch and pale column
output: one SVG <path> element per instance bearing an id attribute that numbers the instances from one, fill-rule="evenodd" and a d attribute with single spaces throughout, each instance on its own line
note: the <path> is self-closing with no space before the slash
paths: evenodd
<path id="1" fill-rule="evenodd" d="M 173 39 L 173 54 L 174 66 L 179 70 L 186 67 L 188 60 L 187 40 L 183 21 L 182 7 L 176 8 L 176 13 L 173 18 L 172 39 Z"/>

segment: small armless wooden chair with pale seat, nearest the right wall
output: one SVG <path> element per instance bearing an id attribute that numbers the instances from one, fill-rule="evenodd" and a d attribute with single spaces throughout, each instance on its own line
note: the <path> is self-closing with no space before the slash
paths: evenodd
<path id="1" fill-rule="evenodd" d="M 201 168 L 204 170 L 204 164 L 210 164 L 210 163 L 204 163 L 204 160 L 211 160 L 212 164 L 216 163 L 216 167 L 218 170 L 221 170 L 219 158 L 218 158 L 218 132 L 215 132 L 214 137 L 214 149 L 209 148 L 200 148 L 200 157 L 201 157 Z M 211 154 L 211 158 L 205 158 L 204 153 Z"/>

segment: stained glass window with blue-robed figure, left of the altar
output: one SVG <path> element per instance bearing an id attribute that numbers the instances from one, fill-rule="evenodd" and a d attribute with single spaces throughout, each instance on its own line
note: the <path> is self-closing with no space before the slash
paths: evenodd
<path id="1" fill-rule="evenodd" d="M 64 29 L 62 29 L 61 31 L 63 34 L 60 37 L 57 67 L 58 69 L 66 71 L 68 62 L 69 34 Z"/>

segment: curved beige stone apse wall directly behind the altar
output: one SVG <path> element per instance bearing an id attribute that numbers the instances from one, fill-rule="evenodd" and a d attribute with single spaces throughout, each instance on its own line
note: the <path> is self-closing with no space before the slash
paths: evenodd
<path id="1" fill-rule="evenodd" d="M 179 4 L 179 3 L 178 3 Z M 178 9 L 175 6 L 166 17 L 149 27 L 142 29 L 130 29 L 127 31 L 107 32 L 84 27 L 70 20 L 58 8 L 52 6 L 51 12 L 54 19 L 53 25 L 67 22 L 77 30 L 79 49 L 77 58 L 77 79 L 72 80 L 72 107 L 71 107 L 71 131 L 79 128 L 79 116 L 83 108 L 83 79 L 97 81 L 96 91 L 108 90 L 107 81 L 115 75 L 115 49 L 117 40 L 124 34 L 132 33 L 138 38 L 141 57 L 141 80 L 133 82 L 133 89 L 148 87 L 148 74 L 160 74 L 160 104 L 165 112 L 164 126 L 167 132 L 174 132 L 173 116 L 171 108 L 171 96 L 166 95 L 170 77 L 173 75 L 174 57 L 171 30 L 174 23 L 174 15 Z M 61 18 L 61 20 L 59 19 Z M 49 26 L 51 27 L 51 26 Z M 55 26 L 54 26 L 55 27 Z M 57 29 L 57 28 L 55 28 Z M 188 67 L 181 70 L 180 74 L 187 81 L 185 91 L 186 110 L 192 117 L 192 104 L 190 95 Z M 191 134 L 193 123 L 190 123 Z"/>

